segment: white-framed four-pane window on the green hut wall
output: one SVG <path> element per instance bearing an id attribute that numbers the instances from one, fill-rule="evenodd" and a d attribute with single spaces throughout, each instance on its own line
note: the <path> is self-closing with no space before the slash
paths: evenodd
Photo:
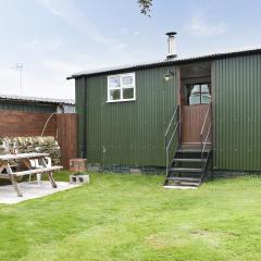
<path id="1" fill-rule="evenodd" d="M 135 73 L 108 76 L 108 102 L 136 99 Z"/>

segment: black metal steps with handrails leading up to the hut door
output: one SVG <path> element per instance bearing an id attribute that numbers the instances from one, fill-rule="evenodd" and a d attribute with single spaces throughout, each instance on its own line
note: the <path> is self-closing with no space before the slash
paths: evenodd
<path id="1" fill-rule="evenodd" d="M 179 105 L 176 107 L 165 133 L 166 177 L 164 186 L 198 187 L 204 181 L 212 156 L 212 145 L 208 141 L 212 121 L 207 126 L 207 119 L 211 116 L 210 110 L 211 103 L 202 124 L 201 142 L 199 145 L 182 145 Z"/>

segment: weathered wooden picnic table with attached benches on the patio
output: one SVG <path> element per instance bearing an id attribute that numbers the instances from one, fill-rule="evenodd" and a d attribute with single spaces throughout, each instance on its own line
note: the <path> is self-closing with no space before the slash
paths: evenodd
<path id="1" fill-rule="evenodd" d="M 36 152 L 2 154 L 0 156 L 0 178 L 10 179 L 18 197 L 23 197 L 23 194 L 21 192 L 17 185 L 17 181 L 16 181 L 16 178 L 20 176 L 47 173 L 52 187 L 57 188 L 57 184 L 52 176 L 52 172 L 57 170 L 61 170 L 62 166 L 47 166 L 47 162 L 45 158 L 48 156 L 49 156 L 48 153 L 36 153 Z M 38 160 L 40 167 L 33 167 L 30 164 L 30 160 Z M 21 162 L 24 166 L 26 166 L 27 170 L 15 172 L 11 165 L 12 161 Z"/>

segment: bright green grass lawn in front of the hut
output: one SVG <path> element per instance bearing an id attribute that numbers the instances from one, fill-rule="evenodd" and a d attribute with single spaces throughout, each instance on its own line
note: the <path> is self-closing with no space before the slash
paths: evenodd
<path id="1" fill-rule="evenodd" d="M 261 260 L 260 178 L 198 190 L 165 190 L 163 179 L 92 174 L 80 188 L 0 204 L 0 260 Z"/>

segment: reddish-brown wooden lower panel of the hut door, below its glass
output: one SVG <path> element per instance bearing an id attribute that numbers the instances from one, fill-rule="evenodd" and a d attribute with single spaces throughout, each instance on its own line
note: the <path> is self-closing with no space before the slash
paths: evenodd
<path id="1" fill-rule="evenodd" d="M 182 105 L 183 144 L 200 144 L 200 133 L 209 104 Z M 211 114 L 211 113 L 209 113 Z M 211 116 L 207 117 L 204 133 L 210 126 Z M 211 137 L 209 137 L 209 142 Z"/>

